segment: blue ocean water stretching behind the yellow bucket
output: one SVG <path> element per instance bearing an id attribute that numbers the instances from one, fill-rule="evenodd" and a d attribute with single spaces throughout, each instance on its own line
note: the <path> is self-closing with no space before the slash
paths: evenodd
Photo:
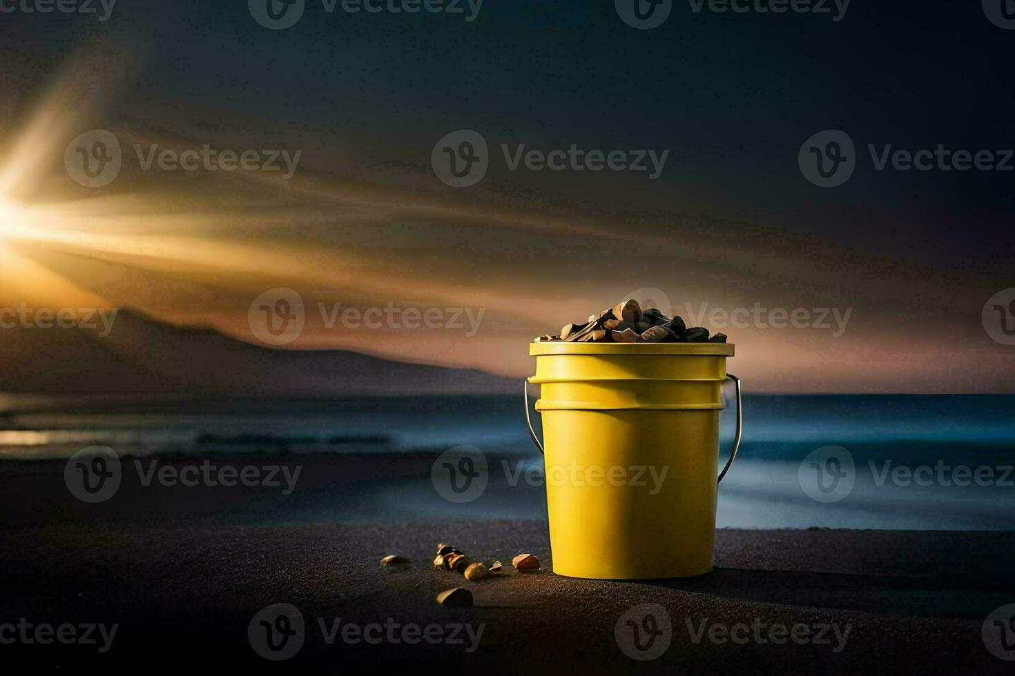
<path id="1" fill-rule="evenodd" d="M 491 462 L 490 471 L 499 471 L 498 463 L 505 473 L 509 467 L 542 471 L 521 396 L 212 400 L 4 395 L 0 411 L 0 459 L 8 461 L 57 461 L 101 445 L 137 457 L 365 453 L 377 454 L 380 462 L 386 456 L 435 455 L 469 445 L 510 459 L 510 464 Z M 721 440 L 724 459 L 732 434 L 728 409 Z M 734 528 L 1011 530 L 1013 465 L 1015 396 L 746 396 L 743 443 L 720 485 L 717 523 Z M 400 485 L 397 495 L 402 507 L 450 507 L 434 496 L 428 476 L 421 476 L 418 485 Z M 476 507 L 482 509 L 481 504 Z M 490 509 L 506 518 L 545 515 L 545 505 L 531 497 L 498 501 Z"/>

